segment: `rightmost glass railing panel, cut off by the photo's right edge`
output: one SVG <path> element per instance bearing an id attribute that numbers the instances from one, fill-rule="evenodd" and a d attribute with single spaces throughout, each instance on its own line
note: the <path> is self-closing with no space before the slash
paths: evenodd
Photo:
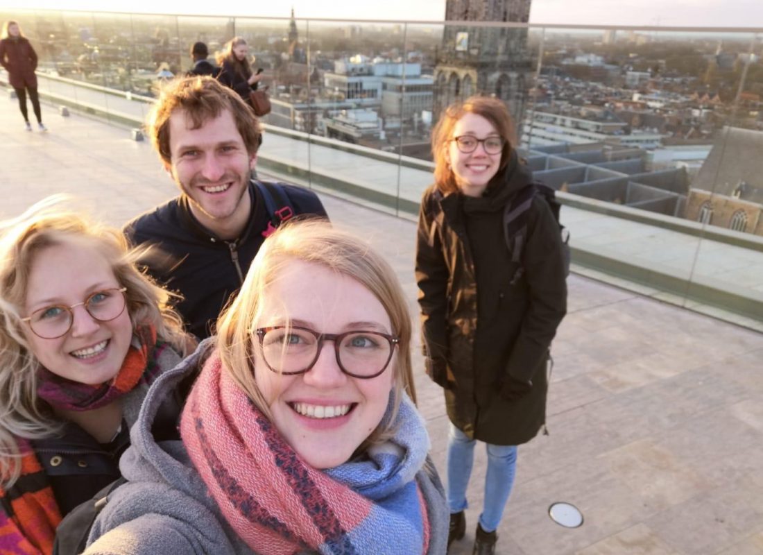
<path id="1" fill-rule="evenodd" d="M 703 226 L 687 306 L 763 327 L 761 34 L 717 38 L 700 77 L 713 140 L 687 198 L 685 217 Z"/>

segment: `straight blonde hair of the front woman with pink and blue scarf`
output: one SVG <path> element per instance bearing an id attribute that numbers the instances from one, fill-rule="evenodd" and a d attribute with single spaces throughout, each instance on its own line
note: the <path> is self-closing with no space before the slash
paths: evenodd
<path id="1" fill-rule="evenodd" d="M 239 295 L 217 320 L 217 346 L 223 367 L 257 408 L 271 418 L 254 375 L 254 331 L 269 286 L 278 279 L 285 266 L 295 260 L 324 266 L 365 286 L 387 311 L 392 334 L 400 339 L 393 356 L 391 418 L 382 420 L 362 444 L 359 450 L 365 450 L 370 444 L 383 441 L 394 433 L 394 417 L 400 407 L 402 392 L 407 392 L 416 402 L 410 361 L 410 313 L 405 295 L 391 266 L 365 241 L 324 221 L 290 221 L 279 227 L 262 244 Z"/>

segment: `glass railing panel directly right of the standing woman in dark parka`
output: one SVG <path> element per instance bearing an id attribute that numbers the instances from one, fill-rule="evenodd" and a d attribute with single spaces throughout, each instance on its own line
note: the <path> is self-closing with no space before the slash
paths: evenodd
<path id="1" fill-rule="evenodd" d="M 699 246 L 684 213 L 686 161 L 707 153 L 691 131 L 705 45 L 696 34 L 546 28 L 523 127 L 536 178 L 563 193 L 573 261 L 678 304 Z"/>

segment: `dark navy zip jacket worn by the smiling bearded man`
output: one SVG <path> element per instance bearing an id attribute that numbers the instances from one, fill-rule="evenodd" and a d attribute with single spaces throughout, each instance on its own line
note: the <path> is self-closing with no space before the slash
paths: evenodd
<path id="1" fill-rule="evenodd" d="M 304 187 L 281 184 L 296 215 L 327 218 L 317 195 Z M 166 257 L 143 260 L 154 279 L 183 300 L 177 310 L 188 331 L 199 339 L 209 337 L 211 326 L 237 292 L 270 224 L 265 201 L 250 184 L 252 209 L 249 222 L 236 240 L 222 240 L 198 223 L 180 195 L 125 225 L 124 232 L 133 244 L 156 244 Z"/>

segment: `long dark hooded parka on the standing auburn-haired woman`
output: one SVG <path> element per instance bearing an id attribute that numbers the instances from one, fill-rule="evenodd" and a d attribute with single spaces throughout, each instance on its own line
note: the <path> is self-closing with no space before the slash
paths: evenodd
<path id="1" fill-rule="evenodd" d="M 549 346 L 567 305 L 559 224 L 542 198 L 528 215 L 524 273 L 510 283 L 519 266 L 504 240 L 504 207 L 531 180 L 513 153 L 481 198 L 431 186 L 419 214 L 427 373 L 445 387 L 450 421 L 497 445 L 526 443 L 545 423 Z M 515 383 L 529 392 L 511 399 Z"/>

